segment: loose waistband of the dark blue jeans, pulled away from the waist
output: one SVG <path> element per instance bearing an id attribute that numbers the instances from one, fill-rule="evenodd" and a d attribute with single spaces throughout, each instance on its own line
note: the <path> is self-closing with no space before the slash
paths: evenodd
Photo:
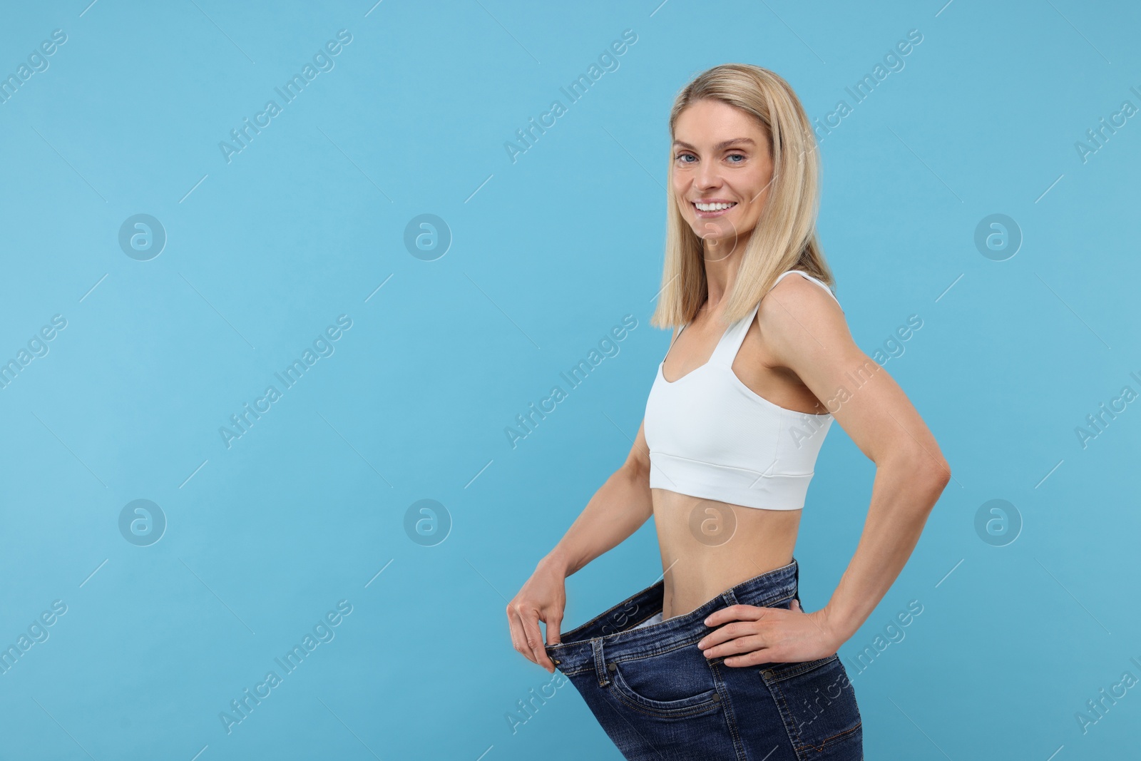
<path id="1" fill-rule="evenodd" d="M 800 568 L 793 558 L 786 566 L 730 586 L 685 615 L 634 629 L 662 612 L 665 582 L 661 580 L 561 634 L 559 645 L 547 646 L 547 654 L 559 671 L 569 675 L 596 666 L 601 671 L 599 664 L 604 657 L 604 647 L 605 658 L 610 662 L 642 658 L 696 643 L 712 631 L 705 625 L 705 617 L 714 610 L 738 604 L 772 607 L 777 602 L 798 598 L 799 576 Z"/>

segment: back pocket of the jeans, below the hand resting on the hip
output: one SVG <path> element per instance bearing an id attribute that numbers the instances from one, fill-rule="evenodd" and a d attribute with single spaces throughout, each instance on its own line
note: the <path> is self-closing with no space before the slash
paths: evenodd
<path id="1" fill-rule="evenodd" d="M 856 693 L 839 655 L 770 663 L 760 671 L 799 758 L 818 758 L 840 742 L 863 742 Z"/>

